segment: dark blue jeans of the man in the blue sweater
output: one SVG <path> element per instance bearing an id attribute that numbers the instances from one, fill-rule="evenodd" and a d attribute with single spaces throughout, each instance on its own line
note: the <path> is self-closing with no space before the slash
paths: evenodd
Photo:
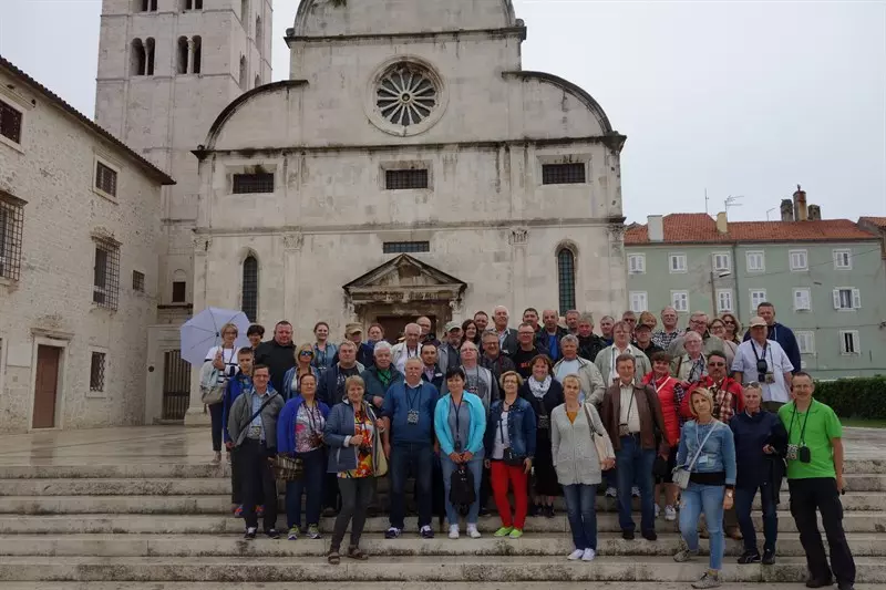
<path id="1" fill-rule="evenodd" d="M 391 526 L 402 529 L 406 516 L 406 477 L 415 476 L 419 493 L 419 528 L 431 525 L 431 444 L 403 444 L 391 447 Z"/>

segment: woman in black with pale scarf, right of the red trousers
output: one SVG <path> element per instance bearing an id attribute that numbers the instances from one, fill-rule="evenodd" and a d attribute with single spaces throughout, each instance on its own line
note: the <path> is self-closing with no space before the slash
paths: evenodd
<path id="1" fill-rule="evenodd" d="M 519 396 L 529 402 L 535 413 L 535 457 L 529 479 L 530 499 L 534 501 L 529 516 L 547 518 L 554 518 L 554 497 L 560 495 L 550 455 L 550 413 L 563 404 L 563 386 L 552 373 L 550 359 L 539 354 L 533 359 L 533 374 L 519 387 Z"/>

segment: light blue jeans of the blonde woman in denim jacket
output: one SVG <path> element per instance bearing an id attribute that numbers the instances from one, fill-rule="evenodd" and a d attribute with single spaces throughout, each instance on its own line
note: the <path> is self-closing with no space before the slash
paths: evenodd
<path id="1" fill-rule="evenodd" d="M 724 486 L 702 486 L 693 482 L 680 494 L 680 534 L 690 551 L 699 550 L 699 517 L 704 510 L 704 522 L 711 537 L 712 570 L 723 568 L 723 496 Z"/>

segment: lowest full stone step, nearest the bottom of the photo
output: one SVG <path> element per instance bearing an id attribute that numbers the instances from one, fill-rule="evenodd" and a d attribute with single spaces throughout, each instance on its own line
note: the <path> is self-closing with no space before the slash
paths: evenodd
<path id="1" fill-rule="evenodd" d="M 330 567 L 326 559 L 298 561 L 268 558 L 80 558 L 10 557 L 0 563 L 1 581 L 667 581 L 697 580 L 707 560 L 676 563 L 669 557 L 600 557 L 590 563 L 562 557 L 385 557 L 369 561 L 344 560 Z M 859 558 L 856 579 L 862 583 L 886 582 L 886 561 Z M 727 581 L 802 581 L 804 558 L 783 558 L 774 566 L 725 563 Z"/>

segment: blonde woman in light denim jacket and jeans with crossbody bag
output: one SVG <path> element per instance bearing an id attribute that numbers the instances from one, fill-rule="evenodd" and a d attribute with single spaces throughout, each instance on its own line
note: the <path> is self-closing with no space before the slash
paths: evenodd
<path id="1" fill-rule="evenodd" d="M 673 556 L 677 562 L 699 555 L 699 518 L 704 513 L 711 538 L 708 571 L 692 588 L 717 588 L 723 567 L 723 510 L 732 508 L 735 487 L 735 445 L 732 431 L 714 420 L 713 395 L 704 389 L 691 394 L 694 420 L 686 423 L 677 454 L 678 468 L 689 474 L 689 486 L 681 494 L 680 534 L 684 548 Z"/>

